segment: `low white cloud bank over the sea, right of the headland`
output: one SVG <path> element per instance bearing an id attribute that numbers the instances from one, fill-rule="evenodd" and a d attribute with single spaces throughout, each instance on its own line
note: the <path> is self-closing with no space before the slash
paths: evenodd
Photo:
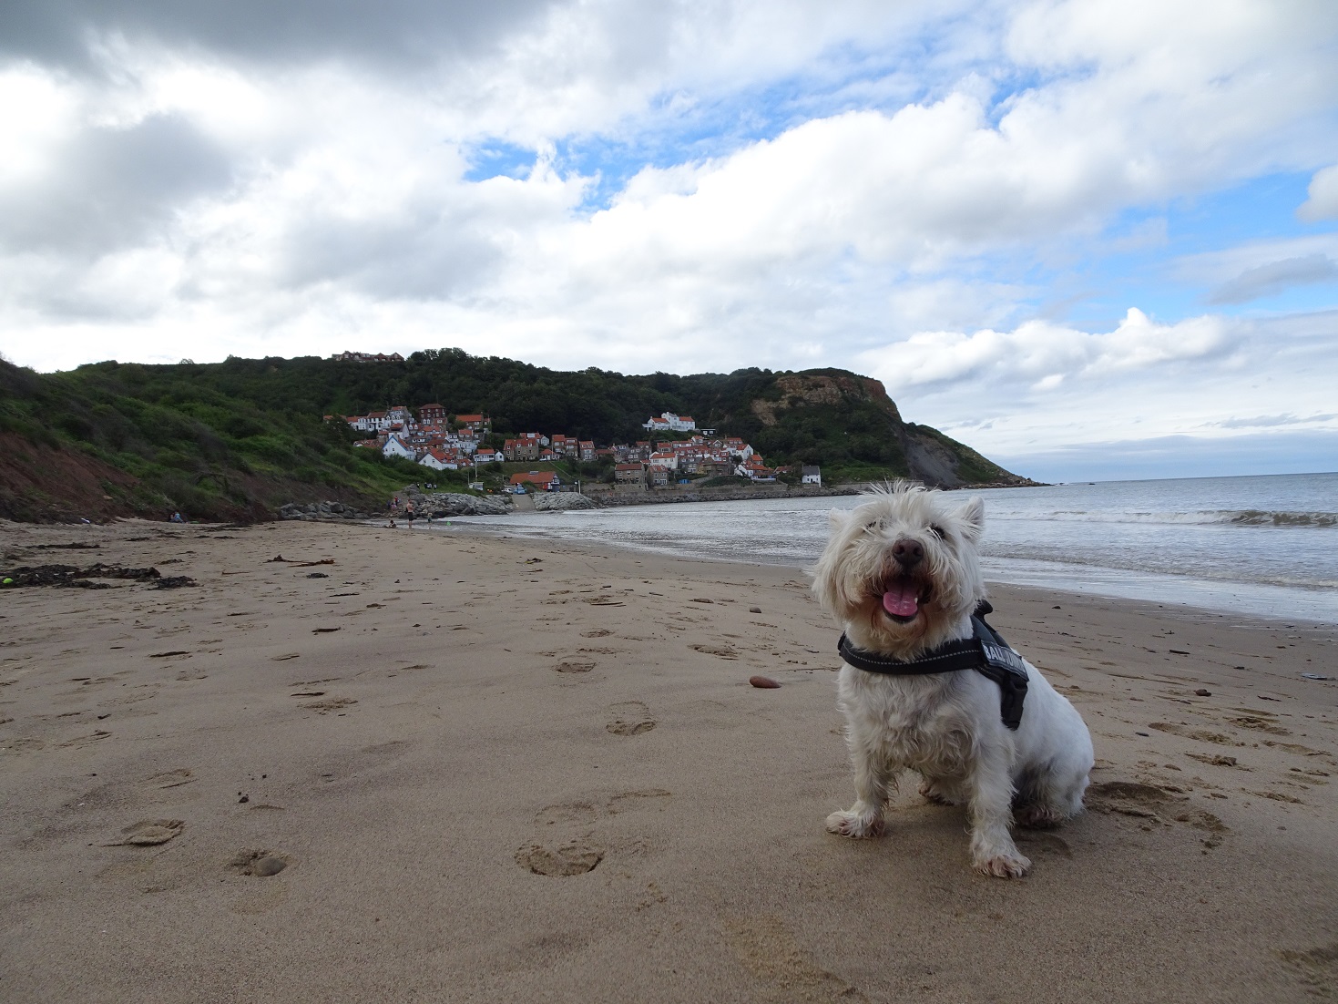
<path id="1" fill-rule="evenodd" d="M 1235 436 L 1248 431 L 1242 415 L 1295 415 L 1295 430 L 1338 432 L 1335 355 L 1338 312 L 1156 324 L 1131 311 L 1111 332 L 1037 321 L 935 332 L 859 361 L 909 419 L 987 456 L 1028 458 L 1064 443 Z"/>

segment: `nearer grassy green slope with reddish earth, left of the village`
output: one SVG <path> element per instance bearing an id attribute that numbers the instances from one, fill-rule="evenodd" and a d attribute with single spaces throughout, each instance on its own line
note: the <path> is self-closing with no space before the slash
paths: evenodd
<path id="1" fill-rule="evenodd" d="M 322 412 L 229 395 L 206 369 L 0 361 L 0 517 L 266 519 L 292 499 L 373 503 L 423 478 L 352 448 Z"/>

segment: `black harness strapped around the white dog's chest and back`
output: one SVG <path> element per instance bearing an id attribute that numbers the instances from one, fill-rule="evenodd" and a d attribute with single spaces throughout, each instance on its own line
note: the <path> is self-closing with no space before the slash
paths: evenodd
<path id="1" fill-rule="evenodd" d="M 971 613 L 971 637 L 945 641 L 919 659 L 902 661 L 855 648 L 844 633 L 836 643 L 836 651 L 856 669 L 883 676 L 929 676 L 974 669 L 998 684 L 999 716 L 1005 726 L 1016 731 L 1022 724 L 1022 701 L 1026 700 L 1026 664 L 1004 636 L 985 622 L 986 613 L 994 613 L 994 608 L 981 600 Z"/>

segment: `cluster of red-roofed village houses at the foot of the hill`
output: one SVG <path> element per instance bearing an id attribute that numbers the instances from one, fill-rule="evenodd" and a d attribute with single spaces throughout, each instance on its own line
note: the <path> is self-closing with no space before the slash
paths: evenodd
<path id="1" fill-rule="evenodd" d="M 563 432 L 494 436 L 492 423 L 486 415 L 451 414 L 436 402 L 415 408 L 395 404 L 387 411 L 367 415 L 325 418 L 340 418 L 351 428 L 368 434 L 367 439 L 356 443 L 359 447 L 380 450 L 384 456 L 399 456 L 435 471 L 471 470 L 476 474 L 482 465 L 491 463 L 579 462 L 598 465 L 605 473 L 606 490 L 615 491 L 650 491 L 716 477 L 775 482 L 787 474 L 797 474 L 805 485 L 822 485 L 822 470 L 816 466 L 804 466 L 797 471 L 768 467 L 761 454 L 743 439 L 717 436 L 713 428 L 697 428 L 690 415 L 669 411 L 644 423 L 646 439 L 602 446 Z M 478 479 L 472 486 L 478 490 L 483 487 Z M 516 494 L 571 489 L 551 469 L 512 473 L 506 487 Z"/>

